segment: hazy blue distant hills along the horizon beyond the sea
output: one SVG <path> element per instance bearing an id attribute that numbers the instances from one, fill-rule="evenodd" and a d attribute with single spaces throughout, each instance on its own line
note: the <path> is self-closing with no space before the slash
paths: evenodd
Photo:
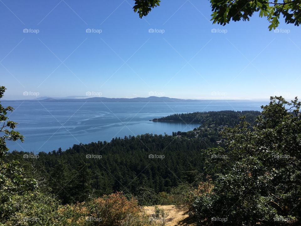
<path id="1" fill-rule="evenodd" d="M 20 101 L 20 100 L 6 100 L 6 101 Z M 39 97 L 34 100 L 22 100 L 26 102 L 195 102 L 202 100 L 184 100 L 169 97 L 135 97 L 135 98 L 106 98 L 106 97 L 91 97 L 84 96 L 70 96 L 66 98 L 52 98 L 52 97 Z"/>

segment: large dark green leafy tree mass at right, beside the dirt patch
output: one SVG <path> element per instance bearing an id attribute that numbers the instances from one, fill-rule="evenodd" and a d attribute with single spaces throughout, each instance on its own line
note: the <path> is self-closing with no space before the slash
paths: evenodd
<path id="1" fill-rule="evenodd" d="M 299 220 L 300 105 L 297 98 L 288 102 L 271 97 L 255 126 L 249 127 L 242 118 L 239 125 L 225 129 L 225 148 L 207 150 L 224 158 L 207 159 L 216 179 L 213 189 L 191 206 L 200 225 L 210 224 L 214 217 L 226 219 L 224 225 L 248 226 L 258 222 L 288 225 Z"/>

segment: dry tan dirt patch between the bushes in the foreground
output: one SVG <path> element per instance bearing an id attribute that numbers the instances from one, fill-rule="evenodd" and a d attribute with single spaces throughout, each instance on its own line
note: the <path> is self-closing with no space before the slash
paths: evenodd
<path id="1" fill-rule="evenodd" d="M 176 225 L 185 225 L 189 226 L 192 224 L 187 224 L 188 214 L 185 214 L 185 210 L 177 210 L 174 205 L 166 205 L 157 207 L 163 208 L 165 212 L 169 213 L 169 216 L 166 218 L 166 226 L 176 226 Z M 155 212 L 155 206 L 145 206 L 144 210 L 146 214 L 151 216 Z"/>

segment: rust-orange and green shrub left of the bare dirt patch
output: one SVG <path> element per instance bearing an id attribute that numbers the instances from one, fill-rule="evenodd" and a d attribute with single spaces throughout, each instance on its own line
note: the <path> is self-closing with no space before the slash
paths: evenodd
<path id="1" fill-rule="evenodd" d="M 133 197 L 127 199 L 121 192 L 88 202 L 65 205 L 60 209 L 64 223 L 78 226 L 120 226 L 128 225 L 129 222 L 137 226 L 144 225 L 142 223 L 146 221 L 140 212 L 137 200 Z"/>

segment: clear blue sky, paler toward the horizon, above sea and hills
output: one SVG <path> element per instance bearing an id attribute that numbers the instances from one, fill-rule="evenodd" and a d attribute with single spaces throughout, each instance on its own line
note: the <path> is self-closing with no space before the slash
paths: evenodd
<path id="1" fill-rule="evenodd" d="M 301 96 L 300 27 L 281 19 L 278 33 L 268 31 L 258 14 L 212 24 L 209 1 L 162 0 L 145 19 L 133 5 L 0 0 L 4 99 Z"/>

